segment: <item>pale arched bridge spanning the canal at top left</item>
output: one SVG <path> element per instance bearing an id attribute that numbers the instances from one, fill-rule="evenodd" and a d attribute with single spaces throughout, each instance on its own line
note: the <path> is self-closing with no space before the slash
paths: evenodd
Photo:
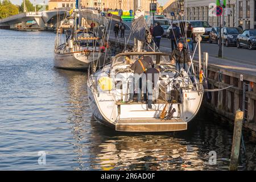
<path id="1" fill-rule="evenodd" d="M 26 28 L 26 23 L 28 21 L 35 20 L 38 27 L 42 30 L 50 27 L 57 27 L 57 19 L 60 17 L 60 20 L 62 20 L 64 15 L 69 15 L 69 10 L 70 8 L 60 8 L 48 11 L 20 13 L 0 19 L 0 26 L 9 26 L 10 29 L 15 29 L 17 28 L 17 24 L 21 23 L 22 28 Z"/>

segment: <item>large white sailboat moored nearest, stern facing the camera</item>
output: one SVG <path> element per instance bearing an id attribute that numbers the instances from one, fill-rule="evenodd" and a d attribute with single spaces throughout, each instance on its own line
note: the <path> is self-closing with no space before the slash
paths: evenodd
<path id="1" fill-rule="evenodd" d="M 183 69 L 175 77 L 175 65 L 171 64 L 169 54 L 143 51 L 140 44 L 137 43 L 137 49 L 133 52 L 114 56 L 111 64 L 92 75 L 88 72 L 89 105 L 93 116 L 116 131 L 187 130 L 187 123 L 200 109 L 203 86 L 195 88 Z M 133 88 L 134 78 L 131 64 L 141 56 L 150 56 L 154 65 L 160 69 L 152 109 L 148 109 L 147 104 L 127 102 L 129 95 L 134 92 L 134 89 L 130 89 Z"/>

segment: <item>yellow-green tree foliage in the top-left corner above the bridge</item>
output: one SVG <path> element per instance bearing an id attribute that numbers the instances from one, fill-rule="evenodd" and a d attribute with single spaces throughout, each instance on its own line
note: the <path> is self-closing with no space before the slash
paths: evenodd
<path id="1" fill-rule="evenodd" d="M 0 4 L 0 19 L 6 18 L 11 15 L 16 15 L 19 13 L 18 7 L 13 5 L 9 0 L 3 0 Z"/>

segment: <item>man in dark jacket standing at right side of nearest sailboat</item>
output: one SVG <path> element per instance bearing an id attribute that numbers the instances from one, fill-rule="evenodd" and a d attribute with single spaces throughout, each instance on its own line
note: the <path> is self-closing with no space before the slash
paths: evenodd
<path id="1" fill-rule="evenodd" d="M 194 78 L 191 75 L 191 71 L 188 70 L 189 65 L 191 65 L 191 59 L 188 54 L 187 49 L 183 49 L 183 44 L 178 43 L 177 48 L 172 51 L 171 56 L 171 63 L 176 64 L 176 71 L 180 72 L 180 69 L 183 68 L 191 78 L 191 81 L 194 82 Z M 179 73 L 176 73 L 174 78 L 176 78 Z"/>

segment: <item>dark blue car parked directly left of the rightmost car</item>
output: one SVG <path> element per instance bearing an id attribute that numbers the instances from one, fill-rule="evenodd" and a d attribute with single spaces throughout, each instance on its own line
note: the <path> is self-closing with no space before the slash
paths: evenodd
<path id="1" fill-rule="evenodd" d="M 239 27 L 224 27 L 221 28 L 223 41 L 226 47 L 237 45 L 237 35 L 242 33 Z"/>

